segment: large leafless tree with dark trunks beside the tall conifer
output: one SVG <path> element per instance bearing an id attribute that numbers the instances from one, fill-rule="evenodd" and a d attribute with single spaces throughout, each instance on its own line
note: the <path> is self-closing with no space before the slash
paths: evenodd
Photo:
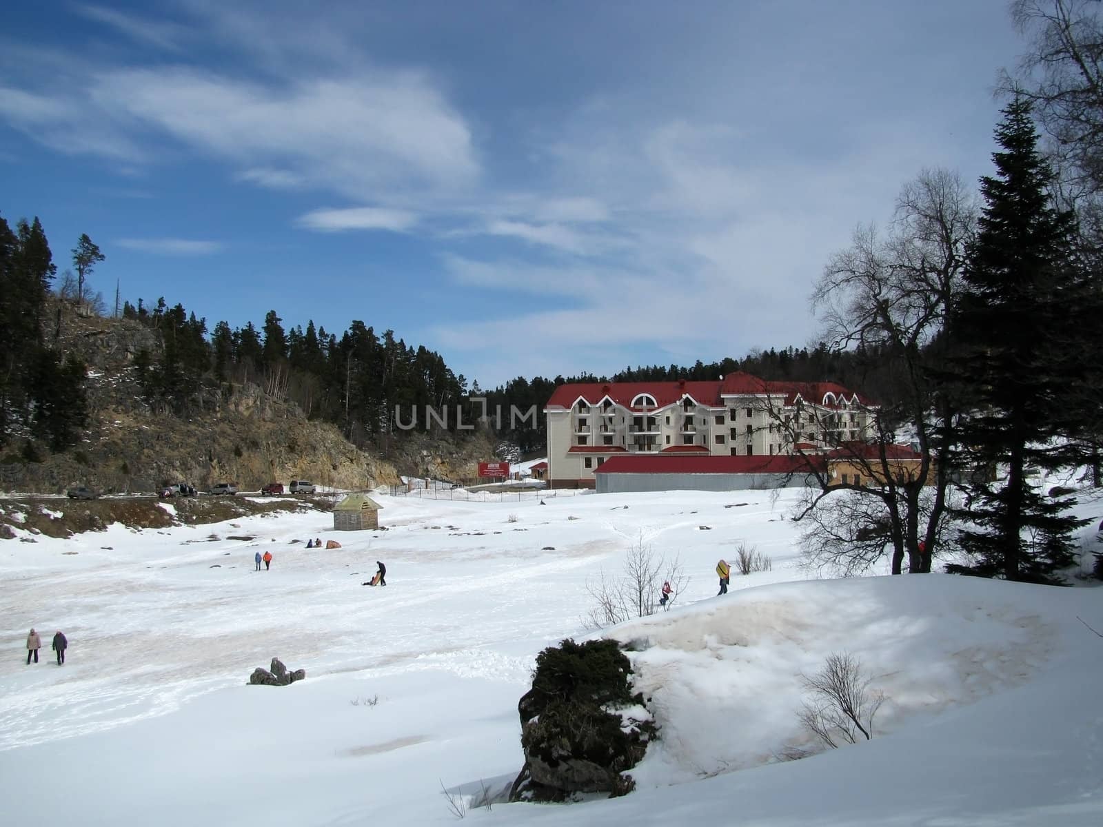
<path id="1" fill-rule="evenodd" d="M 869 422 L 860 439 L 844 429 L 840 417 L 848 415 L 817 404 L 814 393 L 807 393 L 806 404 L 795 412 L 791 406 L 770 402 L 771 427 L 805 459 L 804 472 L 814 488 L 795 518 L 833 507 L 834 501 L 829 505 L 823 501 L 850 492 L 852 502 L 844 511 L 849 508 L 861 522 L 849 539 L 863 526 L 885 526 L 872 539 L 880 540 L 882 551 L 891 549 L 895 574 L 903 571 L 904 559 L 911 572 L 931 570 L 947 513 L 956 410 L 954 400 L 939 391 L 931 368 L 940 356 L 940 333 L 960 283 L 976 215 L 976 196 L 957 174 L 924 170 L 902 187 L 888 234 L 859 227 L 850 246 L 824 268 L 812 304 L 826 344 L 867 355 L 869 368 L 880 372 L 893 400 L 865 411 Z M 900 461 L 900 431 L 913 442 L 918 466 Z M 814 448 L 801 448 L 813 441 Z M 839 466 L 850 472 L 836 477 L 833 472 Z M 863 497 L 878 502 L 855 505 Z M 807 543 L 820 536 L 825 554 L 836 559 L 849 549 L 855 566 L 868 565 L 878 548 L 876 541 L 847 541 L 848 533 L 832 515 L 813 517 L 811 526 Z"/>

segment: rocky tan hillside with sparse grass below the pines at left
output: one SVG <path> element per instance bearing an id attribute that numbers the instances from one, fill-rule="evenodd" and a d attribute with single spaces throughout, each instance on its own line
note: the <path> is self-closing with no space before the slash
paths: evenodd
<path id="1" fill-rule="evenodd" d="M 57 493 L 85 483 L 103 492 L 139 492 L 178 481 L 201 490 L 234 482 L 256 491 L 292 479 L 371 488 L 397 483 L 399 473 L 472 477 L 479 460 L 493 458 L 485 434 L 409 433 L 378 450 L 360 450 L 333 425 L 308 420 L 256 385 L 235 386 L 228 395 L 211 390 L 202 415 L 181 419 L 151 409 L 137 380 L 135 356 L 143 348 L 154 358 L 160 352 L 156 332 L 130 320 L 85 318 L 58 303 L 47 334 L 88 367 L 88 428 L 68 451 L 38 450 L 41 461 L 28 461 L 19 444 L 8 445 L 0 454 L 6 491 Z"/>

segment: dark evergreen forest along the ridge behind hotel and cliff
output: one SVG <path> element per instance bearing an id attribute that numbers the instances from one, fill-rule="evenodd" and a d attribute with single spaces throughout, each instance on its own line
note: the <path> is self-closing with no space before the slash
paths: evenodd
<path id="1" fill-rule="evenodd" d="M 26 350 L 9 348 L 3 385 L 0 386 L 0 444 L 22 441 L 33 454 L 40 447 L 63 450 L 75 444 L 87 421 L 82 390 L 84 365 L 79 354 L 51 341 L 49 300 L 67 301 L 87 314 L 105 314 L 101 297 L 90 300 L 86 284 L 96 264 L 104 260 L 98 247 L 83 236 L 73 250 L 79 268 L 75 286 L 55 284 L 57 266 L 38 218 L 19 221 L 12 232 L 0 217 L 0 286 L 4 297 L 2 335 L 8 342 L 26 342 Z M 89 245 L 92 253 L 88 253 Z M 269 310 L 260 326 L 251 322 L 231 327 L 225 321 L 208 327 L 206 316 L 196 315 L 165 298 L 147 303 L 122 301 L 119 314 L 154 334 L 159 346 L 133 354 L 133 369 L 151 411 L 191 417 L 213 410 L 235 389 L 256 385 L 272 398 L 293 402 L 310 419 L 332 422 L 356 447 L 386 450 L 392 440 L 415 425 L 458 431 L 485 410 L 497 428 L 494 411 L 501 409 L 500 436 L 515 442 L 523 453 L 543 450 L 543 414 L 535 421 L 512 422 L 508 411 L 543 410 L 556 386 L 574 382 L 643 382 L 716 379 L 733 370 L 748 370 L 763 378 L 831 379 L 877 396 L 870 364 L 853 352 L 784 347 L 759 351 L 743 359 L 725 358 L 689 367 L 629 367 L 610 376 L 583 374 L 554 378 L 516 377 L 493 389 L 478 380 L 469 384 L 437 352 L 406 344 L 387 330 L 377 333 L 354 320 L 340 335 L 315 327 L 308 320 L 285 326 L 276 310 Z M 471 401 L 484 398 L 485 404 Z M 426 422 L 426 408 L 441 414 Z M 447 411 L 447 416 L 445 416 Z M 458 416 L 457 411 L 461 411 Z M 441 421 L 443 425 L 441 425 Z M 516 427 L 511 427 L 516 426 Z"/>

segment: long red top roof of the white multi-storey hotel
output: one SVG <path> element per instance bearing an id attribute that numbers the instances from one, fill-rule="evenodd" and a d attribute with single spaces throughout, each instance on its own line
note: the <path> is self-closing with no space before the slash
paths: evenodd
<path id="1" fill-rule="evenodd" d="M 613 383 L 574 383 L 560 385 L 552 394 L 546 408 L 568 409 L 579 399 L 590 406 L 599 405 L 604 398 L 632 410 L 642 410 L 641 406 L 632 406 L 641 394 L 646 394 L 655 400 L 656 408 L 679 402 L 689 396 L 698 405 L 720 408 L 735 400 L 724 397 L 772 394 L 784 395 L 785 404 L 792 405 L 800 396 L 807 402 L 834 407 L 840 401 L 857 400 L 863 405 L 871 402 L 853 390 L 836 385 L 833 382 L 767 382 L 748 373 L 729 374 L 722 380 L 713 382 L 613 382 Z"/>

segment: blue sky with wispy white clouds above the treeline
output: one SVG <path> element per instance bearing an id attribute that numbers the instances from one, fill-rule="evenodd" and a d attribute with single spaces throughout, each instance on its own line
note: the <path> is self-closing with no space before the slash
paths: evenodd
<path id="1" fill-rule="evenodd" d="M 1022 49 L 1003 0 L 9 4 L 0 215 L 109 303 L 483 386 L 740 357 L 921 169 L 990 172 Z"/>

